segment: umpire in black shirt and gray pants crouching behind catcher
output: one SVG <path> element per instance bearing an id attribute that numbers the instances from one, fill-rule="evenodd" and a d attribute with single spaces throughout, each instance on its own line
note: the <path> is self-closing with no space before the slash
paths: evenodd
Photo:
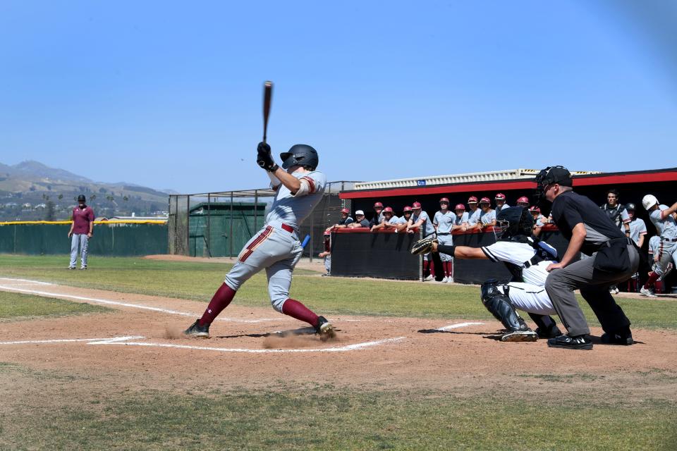
<path id="1" fill-rule="evenodd" d="M 573 294 L 590 304 L 602 323 L 602 342 L 632 345 L 630 320 L 609 293 L 609 286 L 627 280 L 637 271 L 639 253 L 609 216 L 590 199 L 573 192 L 571 173 L 562 166 L 545 168 L 536 177 L 537 197 L 552 202 L 552 218 L 569 245 L 561 261 L 548 266 L 545 282 L 552 304 L 568 335 L 548 340 L 549 347 L 592 349 L 583 311 Z M 579 252 L 594 258 L 575 261 Z"/>

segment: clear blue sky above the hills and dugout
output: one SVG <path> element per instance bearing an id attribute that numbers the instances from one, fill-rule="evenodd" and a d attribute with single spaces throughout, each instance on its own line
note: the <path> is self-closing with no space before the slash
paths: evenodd
<path id="1" fill-rule="evenodd" d="M 610 4 L 5 0 L 0 162 L 261 187 L 273 80 L 274 154 L 311 144 L 329 180 L 677 166 L 674 40 Z"/>

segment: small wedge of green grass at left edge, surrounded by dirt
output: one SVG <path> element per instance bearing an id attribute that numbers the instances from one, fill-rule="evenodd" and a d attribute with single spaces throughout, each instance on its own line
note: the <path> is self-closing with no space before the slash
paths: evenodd
<path id="1" fill-rule="evenodd" d="M 71 316 L 103 311 L 111 311 L 111 309 L 50 297 L 0 292 L 0 321 L 43 316 Z"/>

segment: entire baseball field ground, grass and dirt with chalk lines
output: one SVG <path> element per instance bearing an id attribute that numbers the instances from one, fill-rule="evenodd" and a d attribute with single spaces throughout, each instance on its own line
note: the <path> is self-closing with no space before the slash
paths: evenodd
<path id="1" fill-rule="evenodd" d="M 0 256 L 0 450 L 673 450 L 677 298 L 619 295 L 637 344 L 496 341 L 474 286 L 263 274 L 212 325 L 226 261 Z M 594 335 L 601 334 L 583 307 Z M 528 321 L 528 320 L 527 320 Z"/>

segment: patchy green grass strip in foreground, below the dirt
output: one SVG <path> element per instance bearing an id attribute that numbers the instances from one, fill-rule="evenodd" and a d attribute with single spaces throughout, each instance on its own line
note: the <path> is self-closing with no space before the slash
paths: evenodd
<path id="1" fill-rule="evenodd" d="M 11 369 L 1 371 L 11 371 Z M 23 376 L 26 376 L 25 374 Z M 446 391 L 233 390 L 0 407 L 2 449 L 668 450 L 677 404 Z M 4 423 L 4 426 L 3 426 Z M 20 425 L 30 424 L 30 428 Z"/>

